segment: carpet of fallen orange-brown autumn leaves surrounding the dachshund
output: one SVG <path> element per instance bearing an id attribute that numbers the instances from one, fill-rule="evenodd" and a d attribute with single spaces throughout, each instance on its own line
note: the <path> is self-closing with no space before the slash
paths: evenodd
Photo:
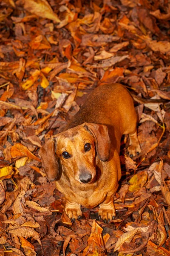
<path id="1" fill-rule="evenodd" d="M 1 0 L 0 255 L 170 256 L 170 3 Z M 71 223 L 39 148 L 91 90 L 122 83 L 142 152 L 122 140 L 116 218 Z"/>

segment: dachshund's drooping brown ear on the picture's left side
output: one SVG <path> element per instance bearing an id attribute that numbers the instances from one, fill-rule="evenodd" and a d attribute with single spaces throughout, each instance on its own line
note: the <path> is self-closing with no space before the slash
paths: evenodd
<path id="1" fill-rule="evenodd" d="M 49 180 L 55 180 L 59 175 L 59 164 L 56 159 L 56 138 L 48 140 L 42 148 L 40 148 L 38 155 L 42 161 L 42 167 Z"/>

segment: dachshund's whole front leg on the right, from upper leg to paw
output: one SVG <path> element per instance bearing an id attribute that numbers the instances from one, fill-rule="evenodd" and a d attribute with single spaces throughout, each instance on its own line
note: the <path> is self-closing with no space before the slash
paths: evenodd
<path id="1" fill-rule="evenodd" d="M 105 201 L 99 204 L 99 219 L 102 218 L 105 223 L 108 223 L 116 216 L 116 209 L 113 202 L 114 194 L 115 189 L 114 191 L 108 192 Z"/>

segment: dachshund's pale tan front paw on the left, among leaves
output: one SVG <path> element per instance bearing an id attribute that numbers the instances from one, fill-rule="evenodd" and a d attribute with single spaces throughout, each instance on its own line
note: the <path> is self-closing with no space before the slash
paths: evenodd
<path id="1" fill-rule="evenodd" d="M 80 204 L 77 204 L 74 201 L 68 201 L 66 200 L 65 203 L 65 212 L 68 215 L 68 217 L 71 219 L 71 221 L 75 221 L 78 218 L 82 216 L 82 211 L 80 208 Z"/>

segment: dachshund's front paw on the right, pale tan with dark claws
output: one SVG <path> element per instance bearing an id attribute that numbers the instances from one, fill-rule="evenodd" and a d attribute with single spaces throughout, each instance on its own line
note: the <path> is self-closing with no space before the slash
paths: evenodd
<path id="1" fill-rule="evenodd" d="M 105 223 L 109 223 L 116 216 L 116 210 L 113 203 L 99 205 L 99 220 L 102 218 Z"/>

